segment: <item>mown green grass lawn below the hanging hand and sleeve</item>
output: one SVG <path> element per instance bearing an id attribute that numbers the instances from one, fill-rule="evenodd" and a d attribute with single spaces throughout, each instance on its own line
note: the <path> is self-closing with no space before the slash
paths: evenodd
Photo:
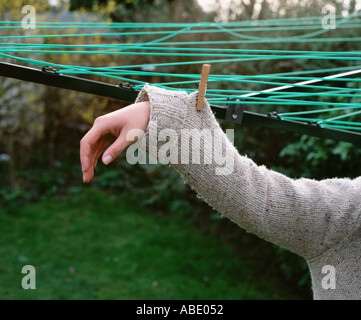
<path id="1" fill-rule="evenodd" d="M 0 226 L 0 299 L 297 298 L 188 221 L 122 195 L 85 188 L 2 208 Z M 36 290 L 21 287 L 26 264 Z"/>

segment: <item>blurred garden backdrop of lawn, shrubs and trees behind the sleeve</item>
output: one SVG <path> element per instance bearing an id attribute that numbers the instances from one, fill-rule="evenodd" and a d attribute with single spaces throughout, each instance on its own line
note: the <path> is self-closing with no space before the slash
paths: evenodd
<path id="1" fill-rule="evenodd" d="M 310 17 L 321 16 L 326 4 L 332 3 L 337 14 L 354 12 L 357 5 L 353 0 L 33 2 L 2 1 L 0 19 L 20 21 L 21 8 L 28 4 L 36 7 L 42 21 L 114 22 Z M 339 31 L 341 37 L 359 34 L 357 28 Z M 286 35 L 279 31 L 272 37 Z M 359 47 L 357 42 L 267 45 L 341 52 Z M 41 58 L 50 59 L 46 54 Z M 86 65 L 110 66 L 150 63 L 159 57 L 64 54 L 55 59 L 62 64 L 82 59 Z M 222 72 L 257 75 L 351 64 L 280 59 L 232 63 Z M 200 72 L 199 65 L 183 68 L 177 71 Z M 174 72 L 172 66 L 166 71 Z M 94 181 L 82 183 L 81 137 L 97 116 L 125 105 L 0 77 L 0 299 L 310 299 L 310 277 L 302 258 L 221 218 L 168 166 L 132 166 L 123 155 L 109 167 L 99 164 Z M 360 175 L 361 150 L 349 143 L 246 125 L 235 129 L 241 154 L 290 177 Z M 21 288 L 21 268 L 26 264 L 36 267 L 36 290 Z"/>

